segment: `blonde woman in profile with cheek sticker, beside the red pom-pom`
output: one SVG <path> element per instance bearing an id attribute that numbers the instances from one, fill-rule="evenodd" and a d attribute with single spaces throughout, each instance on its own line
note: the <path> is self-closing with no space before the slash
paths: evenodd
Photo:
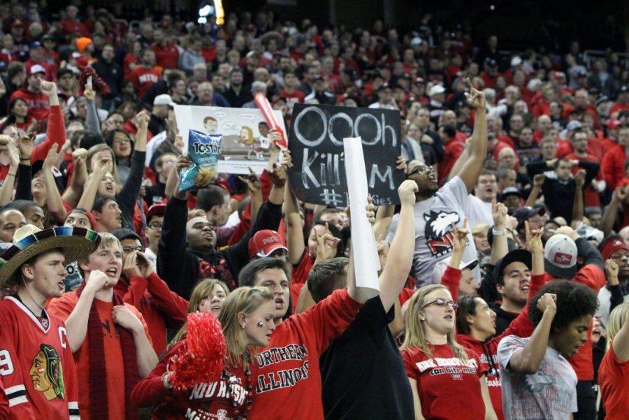
<path id="1" fill-rule="evenodd" d="M 227 356 L 221 377 L 212 383 L 196 384 L 189 391 L 171 388 L 168 363 L 186 338 L 168 350 L 156 368 L 138 382 L 131 398 L 137 407 L 157 405 L 153 419 L 185 419 L 195 412 L 199 418 L 246 419 L 256 384 L 256 347 L 268 345 L 275 331 L 275 300 L 266 287 L 240 287 L 227 296 L 221 322 Z"/>

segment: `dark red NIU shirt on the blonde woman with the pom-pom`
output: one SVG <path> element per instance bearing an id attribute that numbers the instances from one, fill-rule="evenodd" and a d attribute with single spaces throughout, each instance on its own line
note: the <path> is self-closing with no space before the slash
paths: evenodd
<path id="1" fill-rule="evenodd" d="M 244 414 L 249 391 L 247 376 L 242 368 L 229 370 L 232 375 L 230 379 L 236 379 L 233 384 L 229 382 L 229 379 L 227 381 L 219 379 L 217 382 L 198 383 L 189 391 L 168 391 L 164 388 L 161 377 L 166 372 L 171 357 L 182 345 L 185 345 L 185 342 L 184 338 L 171 347 L 152 372 L 138 382 L 131 393 L 133 404 L 138 407 L 157 405 L 153 412 L 153 419 L 236 419 L 236 410 Z M 256 377 L 256 366 L 250 365 L 250 369 L 252 370 L 249 384 L 255 386 L 253 381 Z M 236 407 L 232 405 L 234 400 L 236 400 Z M 189 413 L 194 413 L 194 415 Z"/>

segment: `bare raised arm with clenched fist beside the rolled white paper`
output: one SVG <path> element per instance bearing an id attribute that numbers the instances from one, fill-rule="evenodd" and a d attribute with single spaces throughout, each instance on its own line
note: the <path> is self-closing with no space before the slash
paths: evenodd
<path id="1" fill-rule="evenodd" d="M 415 193 L 417 184 L 412 180 L 405 180 L 398 188 L 398 195 L 402 208 L 396 234 L 391 241 L 389 253 L 386 256 L 386 264 L 379 277 L 380 300 L 384 312 L 389 312 L 393 303 L 408 277 L 413 262 L 413 249 L 415 248 L 415 218 L 413 208 L 415 205 Z"/>

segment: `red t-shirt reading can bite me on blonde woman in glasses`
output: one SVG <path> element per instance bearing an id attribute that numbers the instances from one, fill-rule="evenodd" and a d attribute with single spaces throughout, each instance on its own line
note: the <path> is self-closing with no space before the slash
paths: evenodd
<path id="1" fill-rule="evenodd" d="M 476 352 L 465 349 L 461 361 L 450 345 L 433 346 L 431 358 L 419 349 L 402 351 L 406 374 L 417 381 L 421 414 L 426 419 L 484 419 L 480 378 L 485 368 Z"/>

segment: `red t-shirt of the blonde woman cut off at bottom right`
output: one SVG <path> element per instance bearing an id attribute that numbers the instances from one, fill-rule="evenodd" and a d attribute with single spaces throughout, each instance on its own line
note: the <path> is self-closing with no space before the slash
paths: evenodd
<path id="1" fill-rule="evenodd" d="M 621 363 L 610 346 L 598 368 L 600 396 L 607 420 L 625 420 L 629 415 L 629 362 Z"/>

